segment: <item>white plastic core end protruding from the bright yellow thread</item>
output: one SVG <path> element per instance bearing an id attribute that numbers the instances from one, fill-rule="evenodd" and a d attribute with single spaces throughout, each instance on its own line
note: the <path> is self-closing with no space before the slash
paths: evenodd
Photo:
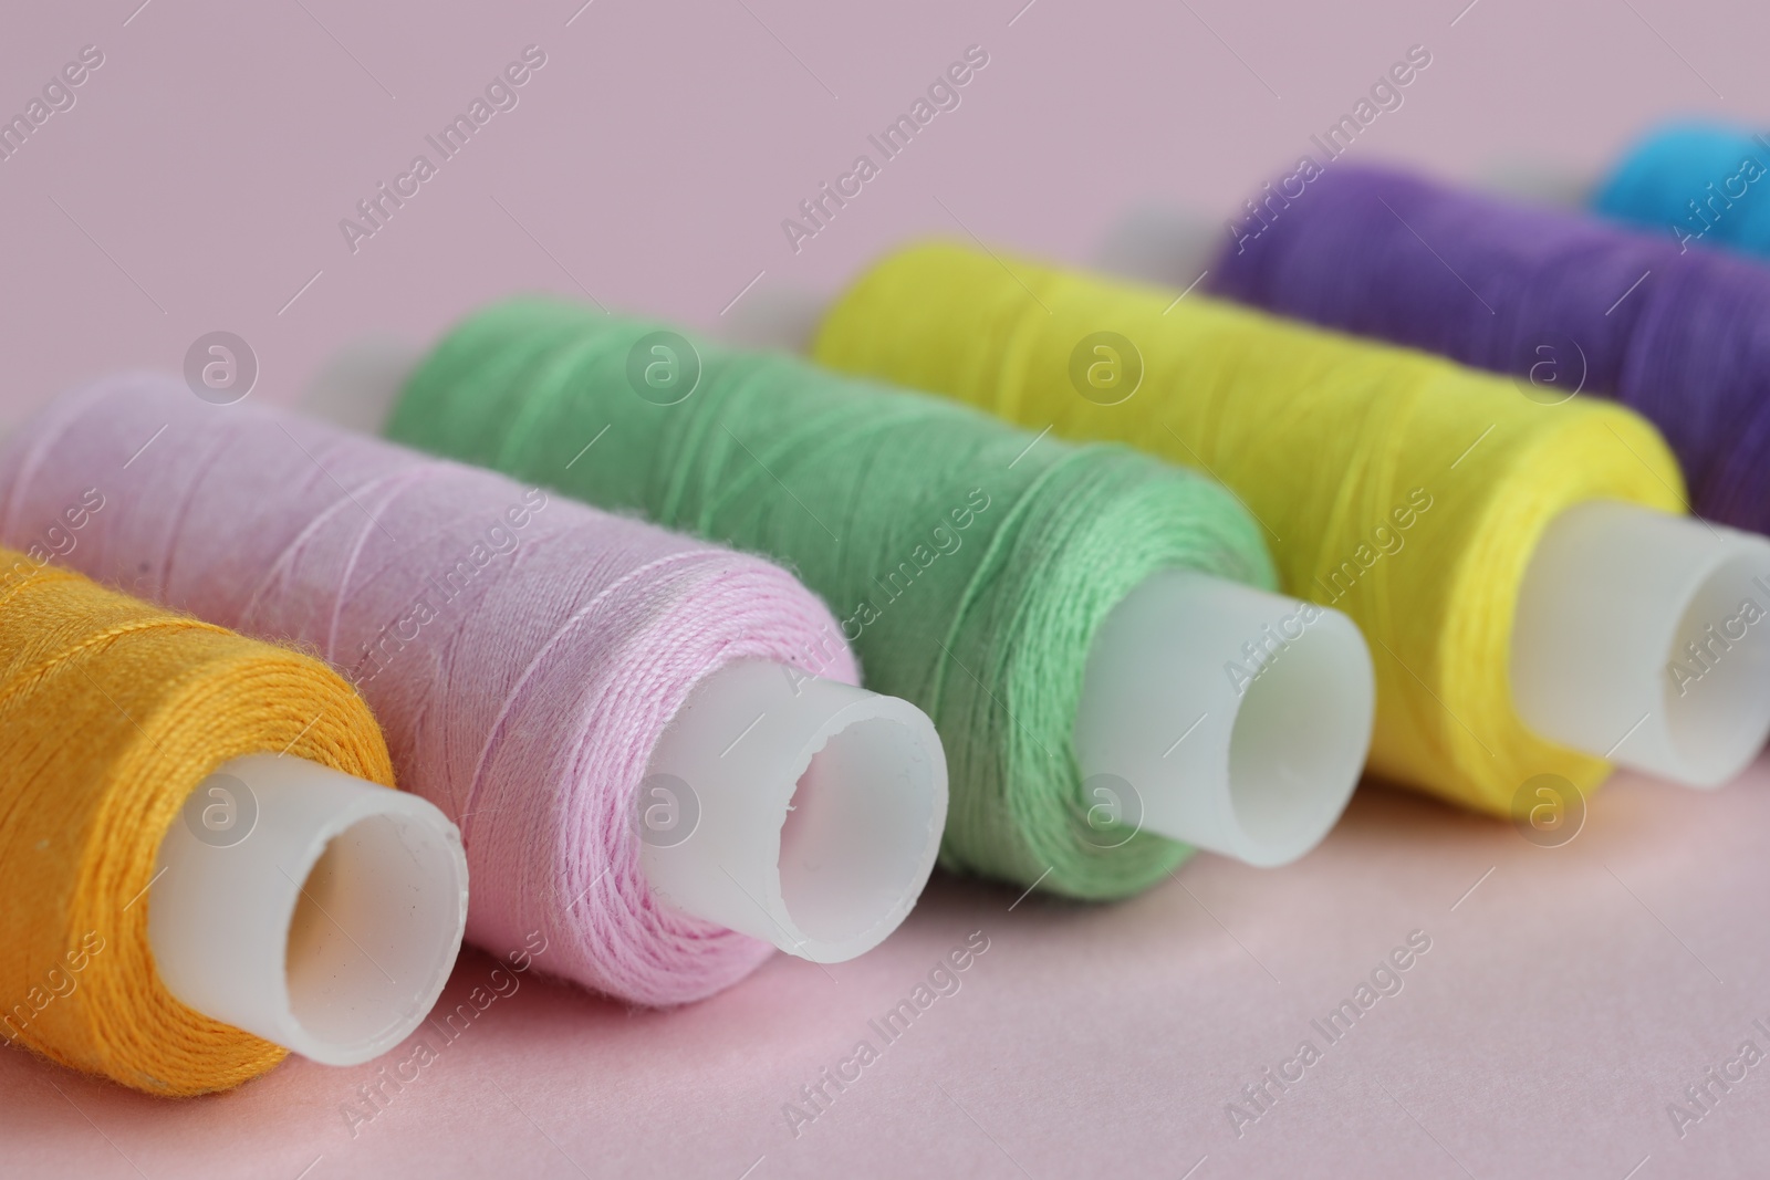
<path id="1" fill-rule="evenodd" d="M 1543 531 L 1512 695 L 1543 738 L 1717 787 L 1770 734 L 1770 540 L 1616 501 Z"/>

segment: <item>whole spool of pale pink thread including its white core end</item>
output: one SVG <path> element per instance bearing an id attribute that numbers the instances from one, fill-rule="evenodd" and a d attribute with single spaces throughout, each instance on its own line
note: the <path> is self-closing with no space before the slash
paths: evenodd
<path id="1" fill-rule="evenodd" d="M 828 610 L 768 563 L 152 375 L 21 428 L 0 533 L 94 479 L 113 504 L 67 561 L 343 670 L 460 824 L 469 938 L 496 954 L 540 932 L 543 969 L 680 1003 L 761 939 L 858 954 L 927 877 L 933 727 L 851 688 Z M 788 676 L 811 658 L 827 679 Z"/>

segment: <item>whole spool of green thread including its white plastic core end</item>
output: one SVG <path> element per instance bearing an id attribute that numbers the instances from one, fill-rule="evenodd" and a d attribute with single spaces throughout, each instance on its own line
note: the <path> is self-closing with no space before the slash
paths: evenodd
<path id="1" fill-rule="evenodd" d="M 1292 860 L 1356 784 L 1356 628 L 1223 580 L 1271 584 L 1258 527 L 1147 456 L 545 299 L 451 331 L 388 430 L 791 563 L 940 727 L 949 867 L 1122 897 L 1188 844 Z"/>

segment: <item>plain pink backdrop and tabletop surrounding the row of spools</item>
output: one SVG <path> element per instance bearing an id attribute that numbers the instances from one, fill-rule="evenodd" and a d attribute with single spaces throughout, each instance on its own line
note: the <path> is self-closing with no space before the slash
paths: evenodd
<path id="1" fill-rule="evenodd" d="M 1411 44 L 1432 65 L 1359 156 L 1589 172 L 1662 113 L 1770 117 L 1761 5 L 1021 2 L 12 14 L 0 113 L 85 44 L 104 65 L 0 161 L 0 423 L 83 377 L 177 370 L 214 329 L 255 349 L 253 396 L 287 402 L 343 341 L 423 341 L 515 288 L 717 327 L 758 272 L 745 299 L 834 288 L 961 225 L 1085 260 L 1135 203 L 1221 209 L 1292 165 Z M 352 255 L 338 219 L 531 42 L 519 106 Z M 795 255 L 781 219 L 970 44 L 989 65 L 963 104 Z M 1120 906 L 936 879 L 873 955 L 775 959 L 673 1014 L 529 977 L 354 1138 L 340 1104 L 373 1067 L 290 1061 L 172 1104 L 5 1051 L 0 1173 L 1761 1175 L 1770 1067 L 1683 1139 L 1666 1104 L 1743 1038 L 1770 1049 L 1766 775 L 1618 782 L 1561 849 L 1366 789 L 1294 867 L 1200 856 Z M 1237 1139 L 1237 1088 L 1412 929 L 1434 941 L 1405 989 Z M 795 1139 L 782 1102 L 970 931 L 991 948 L 963 989 Z M 489 969 L 466 955 L 450 1003 Z"/>

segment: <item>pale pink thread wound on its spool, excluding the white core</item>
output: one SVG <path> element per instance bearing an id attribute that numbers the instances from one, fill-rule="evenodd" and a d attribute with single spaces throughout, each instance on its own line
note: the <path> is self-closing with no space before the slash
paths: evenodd
<path id="1" fill-rule="evenodd" d="M 359 683 L 402 784 L 462 831 L 471 941 L 540 931 L 545 969 L 648 1005 L 768 957 L 651 895 L 634 800 L 664 725 L 727 662 L 814 655 L 853 683 L 828 610 L 784 570 L 156 375 L 21 428 L 0 534 L 39 534 L 96 472 L 112 504 L 67 561 Z"/>

